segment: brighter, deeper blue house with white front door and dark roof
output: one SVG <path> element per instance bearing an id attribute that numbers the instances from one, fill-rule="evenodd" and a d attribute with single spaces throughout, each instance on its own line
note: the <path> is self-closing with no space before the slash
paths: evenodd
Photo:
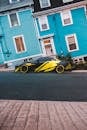
<path id="1" fill-rule="evenodd" d="M 44 55 L 71 54 L 87 61 L 87 1 L 34 0 L 34 18 Z"/>

